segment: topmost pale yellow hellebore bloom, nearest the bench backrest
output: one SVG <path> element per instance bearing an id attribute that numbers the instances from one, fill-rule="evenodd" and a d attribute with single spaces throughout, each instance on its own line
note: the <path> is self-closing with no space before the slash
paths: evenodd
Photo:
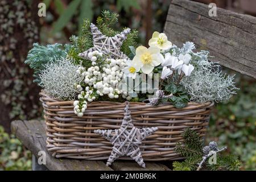
<path id="1" fill-rule="evenodd" d="M 149 46 L 156 46 L 159 49 L 167 50 L 172 47 L 172 43 L 168 41 L 166 34 L 154 32 L 152 38 L 148 41 Z"/>

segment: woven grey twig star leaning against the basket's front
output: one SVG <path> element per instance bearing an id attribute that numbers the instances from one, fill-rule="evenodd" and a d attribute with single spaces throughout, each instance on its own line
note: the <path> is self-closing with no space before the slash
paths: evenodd
<path id="1" fill-rule="evenodd" d="M 115 159 L 122 156 L 130 156 L 139 166 L 145 168 L 139 145 L 147 136 L 158 130 L 157 127 L 138 129 L 134 127 L 129 110 L 129 102 L 126 102 L 125 113 L 122 125 L 116 130 L 94 130 L 94 133 L 102 135 L 113 144 L 112 152 L 109 156 L 107 166 L 110 166 Z"/>

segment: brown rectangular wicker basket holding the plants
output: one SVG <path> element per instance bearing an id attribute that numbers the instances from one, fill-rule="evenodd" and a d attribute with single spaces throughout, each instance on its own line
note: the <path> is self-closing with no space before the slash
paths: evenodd
<path id="1" fill-rule="evenodd" d="M 94 134 L 97 129 L 118 129 L 123 118 L 125 104 L 119 102 L 92 102 L 82 118 L 73 111 L 73 101 L 58 101 L 40 93 L 46 120 L 47 148 L 56 158 L 88 160 L 108 159 L 112 143 Z M 207 131 L 209 114 L 214 103 L 189 102 L 183 109 L 173 105 L 146 105 L 131 102 L 130 110 L 135 127 L 158 127 L 153 135 L 140 146 L 144 160 L 181 159 L 175 152 L 175 143 L 182 142 L 181 133 L 187 127 L 196 130 L 201 137 Z M 121 158 L 130 160 L 131 158 Z"/>

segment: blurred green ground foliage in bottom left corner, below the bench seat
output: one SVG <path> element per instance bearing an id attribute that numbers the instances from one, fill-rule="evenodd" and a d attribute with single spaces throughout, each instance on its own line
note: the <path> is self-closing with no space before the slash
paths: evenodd
<path id="1" fill-rule="evenodd" d="M 0 171 L 31 170 L 31 156 L 14 135 L 5 133 L 0 126 Z"/>

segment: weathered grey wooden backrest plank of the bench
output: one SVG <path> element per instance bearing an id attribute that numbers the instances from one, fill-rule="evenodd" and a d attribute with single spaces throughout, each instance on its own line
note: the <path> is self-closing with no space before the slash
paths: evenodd
<path id="1" fill-rule="evenodd" d="M 207 5 L 173 0 L 164 32 L 172 43 L 194 42 L 197 50 L 210 51 L 212 61 L 256 78 L 256 18 L 217 8 L 208 15 Z"/>

